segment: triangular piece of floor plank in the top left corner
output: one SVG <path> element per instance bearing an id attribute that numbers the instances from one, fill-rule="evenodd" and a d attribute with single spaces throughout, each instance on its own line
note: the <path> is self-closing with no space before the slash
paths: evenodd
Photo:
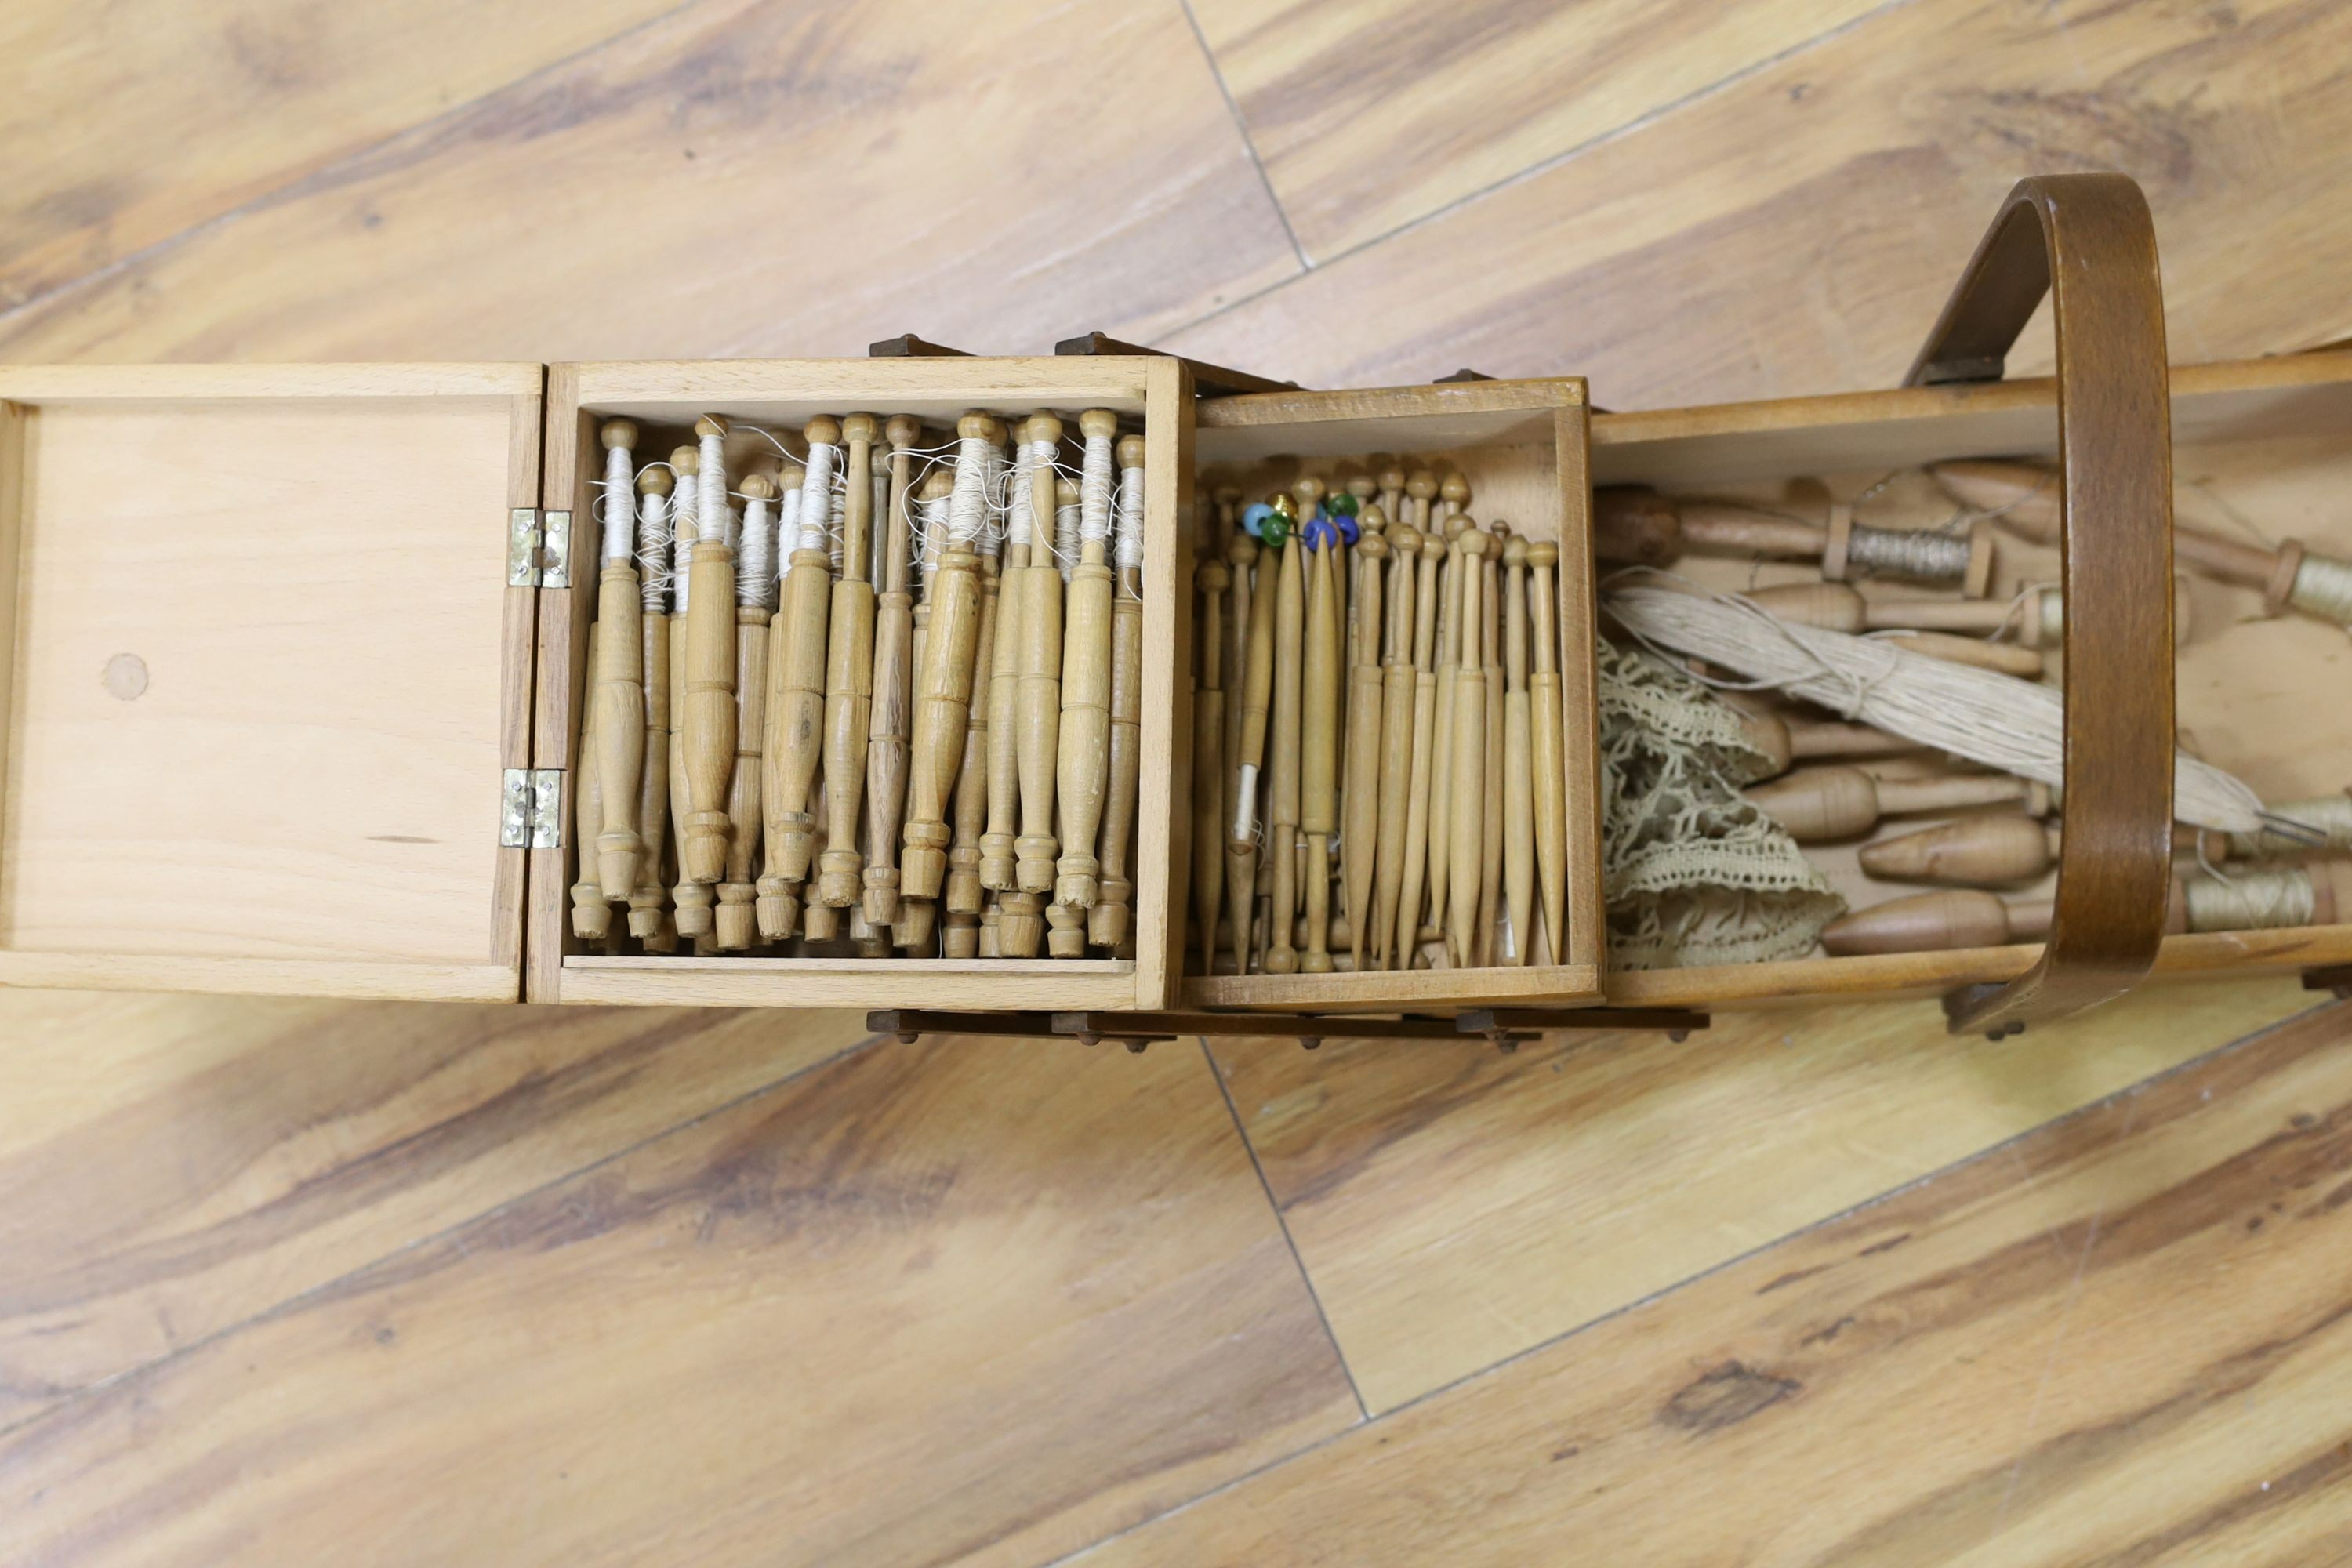
<path id="1" fill-rule="evenodd" d="M 219 219 L 680 0 L 12 0 L 0 308 Z"/>

